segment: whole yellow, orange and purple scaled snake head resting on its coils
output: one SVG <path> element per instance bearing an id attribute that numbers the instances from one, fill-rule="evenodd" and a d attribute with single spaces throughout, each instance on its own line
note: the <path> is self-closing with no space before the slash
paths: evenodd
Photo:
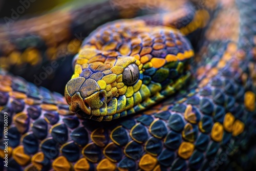
<path id="1" fill-rule="evenodd" d="M 193 55 L 175 29 L 141 20 L 107 24 L 83 42 L 66 100 L 71 111 L 97 121 L 138 113 L 186 84 Z"/>

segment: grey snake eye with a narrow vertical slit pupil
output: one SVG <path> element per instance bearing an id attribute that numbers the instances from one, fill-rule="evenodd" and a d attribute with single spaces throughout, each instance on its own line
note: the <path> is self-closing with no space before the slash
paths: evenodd
<path id="1" fill-rule="evenodd" d="M 127 66 L 123 71 L 123 83 L 127 86 L 131 86 L 139 79 L 140 71 L 135 63 Z"/>

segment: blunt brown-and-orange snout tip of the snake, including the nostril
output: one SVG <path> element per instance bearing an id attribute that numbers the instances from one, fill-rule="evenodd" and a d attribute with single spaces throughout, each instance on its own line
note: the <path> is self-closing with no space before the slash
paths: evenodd
<path id="1" fill-rule="evenodd" d="M 65 97 L 71 111 L 81 110 L 88 115 L 94 115 L 96 110 L 105 106 L 107 93 L 105 90 L 100 90 L 95 80 L 77 77 L 67 83 Z"/>

